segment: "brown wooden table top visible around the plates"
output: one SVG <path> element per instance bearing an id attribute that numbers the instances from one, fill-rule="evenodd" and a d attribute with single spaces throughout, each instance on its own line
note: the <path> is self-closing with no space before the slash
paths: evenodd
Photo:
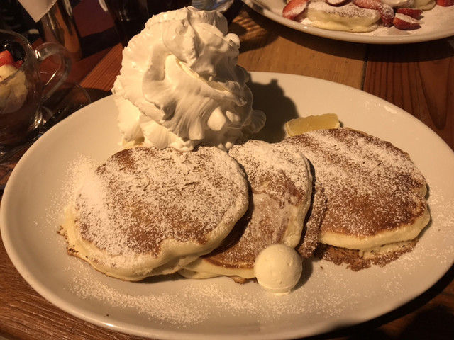
<path id="1" fill-rule="evenodd" d="M 77 23 L 84 23 L 80 16 Z M 246 6 L 229 29 L 240 37 L 238 64 L 248 71 L 301 74 L 361 89 L 411 113 L 454 149 L 454 37 L 411 45 L 342 42 L 281 26 Z M 111 93 L 121 51 L 116 44 L 77 64 L 73 77 L 93 100 Z M 0 273 L 0 338 L 140 339 L 96 327 L 51 305 L 23 280 L 3 244 Z M 454 339 L 453 279 L 450 268 L 436 285 L 397 310 L 314 339 Z"/>

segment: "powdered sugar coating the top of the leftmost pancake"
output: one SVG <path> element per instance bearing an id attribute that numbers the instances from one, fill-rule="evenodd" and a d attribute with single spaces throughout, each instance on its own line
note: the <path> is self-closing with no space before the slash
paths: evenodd
<path id="1" fill-rule="evenodd" d="M 206 152 L 208 149 L 210 152 Z M 198 156 L 190 157 L 195 154 L 143 148 L 112 157 L 84 181 L 79 191 L 77 210 L 81 212 L 82 234 L 100 249 L 118 255 L 155 251 L 160 240 L 169 237 L 179 242 L 187 241 L 188 236 L 201 239 L 216 229 L 224 207 L 241 197 L 232 196 L 231 190 L 242 189 L 245 193 L 245 181 L 238 165 L 226 162 L 223 152 L 201 148 Z M 219 157 L 221 154 L 223 157 Z M 206 171 L 201 171 L 201 164 Z M 207 198 L 212 205 L 202 204 Z M 168 210 L 175 214 L 172 219 L 167 217 Z M 153 239 L 135 242 L 128 232 L 133 229 L 146 233 L 148 223 L 160 224 L 153 246 L 149 245 Z M 182 233 L 175 230 L 175 225 Z M 201 228 L 200 234 L 189 234 L 192 227 Z"/>

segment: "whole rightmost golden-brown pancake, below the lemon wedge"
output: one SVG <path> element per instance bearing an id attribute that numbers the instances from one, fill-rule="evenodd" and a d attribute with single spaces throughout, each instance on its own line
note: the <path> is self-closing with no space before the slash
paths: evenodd
<path id="1" fill-rule="evenodd" d="M 326 195 L 319 256 L 358 270 L 413 249 L 430 215 L 426 181 L 409 154 L 348 128 L 311 131 L 283 143 L 306 155 Z"/>

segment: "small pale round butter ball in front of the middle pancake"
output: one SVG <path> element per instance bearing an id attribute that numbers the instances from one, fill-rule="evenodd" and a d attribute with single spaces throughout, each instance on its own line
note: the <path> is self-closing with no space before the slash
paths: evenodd
<path id="1" fill-rule="evenodd" d="M 277 295 L 288 294 L 297 285 L 302 270 L 301 256 L 285 244 L 272 244 L 263 249 L 254 263 L 258 283 Z"/>

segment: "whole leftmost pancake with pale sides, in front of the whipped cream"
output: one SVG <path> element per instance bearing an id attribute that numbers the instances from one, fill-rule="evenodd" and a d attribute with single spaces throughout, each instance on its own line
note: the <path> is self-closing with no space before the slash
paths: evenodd
<path id="1" fill-rule="evenodd" d="M 226 152 L 135 147 L 84 179 L 62 234 L 96 270 L 141 280 L 208 254 L 247 208 L 244 172 Z"/>

